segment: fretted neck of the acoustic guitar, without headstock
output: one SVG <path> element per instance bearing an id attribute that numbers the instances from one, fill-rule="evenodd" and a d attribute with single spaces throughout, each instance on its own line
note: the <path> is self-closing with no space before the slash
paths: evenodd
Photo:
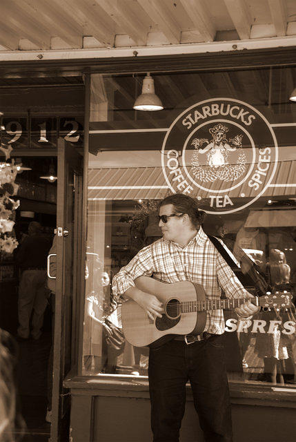
<path id="1" fill-rule="evenodd" d="M 257 298 L 250 299 L 250 301 L 257 305 Z M 237 299 L 208 299 L 202 301 L 182 301 L 179 304 L 181 313 L 192 313 L 193 311 L 207 311 L 219 309 L 235 309 L 246 302 L 245 298 Z"/>

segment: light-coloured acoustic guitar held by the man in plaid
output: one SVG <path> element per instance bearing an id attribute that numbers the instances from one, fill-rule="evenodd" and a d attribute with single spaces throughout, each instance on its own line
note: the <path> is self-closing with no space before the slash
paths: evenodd
<path id="1" fill-rule="evenodd" d="M 147 276 L 135 280 L 138 289 L 157 296 L 162 302 L 164 314 L 151 320 L 146 311 L 134 300 L 122 305 L 122 327 L 126 340 L 135 347 L 159 347 L 175 335 L 200 334 L 206 324 L 206 311 L 234 309 L 246 302 L 239 299 L 206 299 L 204 288 L 190 281 L 174 284 L 160 282 Z M 251 298 L 250 301 L 265 309 L 285 309 L 292 305 L 289 293 Z"/>

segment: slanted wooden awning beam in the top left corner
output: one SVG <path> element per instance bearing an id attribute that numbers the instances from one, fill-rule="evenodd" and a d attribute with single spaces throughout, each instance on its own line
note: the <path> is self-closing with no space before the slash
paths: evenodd
<path id="1" fill-rule="evenodd" d="M 0 22 L 15 32 L 19 39 L 28 39 L 38 48 L 50 49 L 50 34 L 45 32 L 42 23 L 21 7 L 21 2 L 1 0 Z"/>

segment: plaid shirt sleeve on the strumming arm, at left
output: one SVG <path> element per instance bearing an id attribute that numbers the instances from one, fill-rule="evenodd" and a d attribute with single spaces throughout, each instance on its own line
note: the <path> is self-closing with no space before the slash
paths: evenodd
<path id="1" fill-rule="evenodd" d="M 151 247 L 141 249 L 132 260 L 122 267 L 112 280 L 113 295 L 117 300 L 124 295 L 130 287 L 135 287 L 135 279 L 139 276 L 152 275 Z"/>

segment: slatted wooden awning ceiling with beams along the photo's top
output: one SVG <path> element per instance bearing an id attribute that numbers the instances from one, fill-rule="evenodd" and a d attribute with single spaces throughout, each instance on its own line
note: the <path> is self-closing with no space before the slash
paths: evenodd
<path id="1" fill-rule="evenodd" d="M 293 35 L 295 0 L 0 3 L 0 62 L 1 53 L 17 50 L 151 47 Z"/>

